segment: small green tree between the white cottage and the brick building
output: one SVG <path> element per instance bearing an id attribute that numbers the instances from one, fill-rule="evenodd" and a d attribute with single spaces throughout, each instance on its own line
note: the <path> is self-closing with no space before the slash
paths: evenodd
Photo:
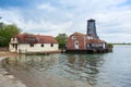
<path id="1" fill-rule="evenodd" d="M 59 44 L 59 48 L 60 49 L 63 49 L 66 47 L 66 42 L 67 42 L 67 39 L 68 39 L 68 35 L 67 34 L 59 34 L 57 37 L 56 37 L 58 44 Z"/>

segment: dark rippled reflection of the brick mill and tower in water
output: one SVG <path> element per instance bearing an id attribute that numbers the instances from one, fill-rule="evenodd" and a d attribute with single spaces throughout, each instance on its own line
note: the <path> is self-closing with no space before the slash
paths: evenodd
<path id="1" fill-rule="evenodd" d="M 103 55 L 100 55 L 103 57 Z M 96 85 L 99 66 L 103 65 L 104 59 L 98 54 L 72 54 L 68 55 L 68 63 L 64 63 L 70 70 L 66 70 L 71 75 L 78 76 L 79 79 L 87 80 L 91 85 Z"/>

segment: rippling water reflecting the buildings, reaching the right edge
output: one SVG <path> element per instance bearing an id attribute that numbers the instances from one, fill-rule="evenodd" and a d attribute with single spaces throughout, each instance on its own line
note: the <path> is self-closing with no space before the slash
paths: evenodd
<path id="1" fill-rule="evenodd" d="M 9 72 L 27 71 L 38 82 L 46 75 L 55 80 L 84 82 L 92 87 L 131 87 L 130 53 L 131 46 L 115 46 L 111 53 L 20 55 L 4 60 L 3 66 Z"/>

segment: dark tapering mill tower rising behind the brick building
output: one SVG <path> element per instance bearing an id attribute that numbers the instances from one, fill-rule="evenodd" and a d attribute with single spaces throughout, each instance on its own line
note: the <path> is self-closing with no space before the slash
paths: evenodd
<path id="1" fill-rule="evenodd" d="M 95 25 L 95 20 L 88 20 L 87 21 L 87 34 L 86 35 L 92 35 L 94 38 L 98 38 L 97 33 L 96 33 L 96 25 Z"/>

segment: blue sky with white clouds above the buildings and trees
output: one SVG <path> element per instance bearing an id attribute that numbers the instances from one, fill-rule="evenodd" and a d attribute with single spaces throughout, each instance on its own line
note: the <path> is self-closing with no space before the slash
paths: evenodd
<path id="1" fill-rule="evenodd" d="M 131 42 L 131 0 L 0 0 L 0 16 L 22 33 L 53 37 L 86 34 L 87 20 L 94 18 L 100 39 Z"/>

